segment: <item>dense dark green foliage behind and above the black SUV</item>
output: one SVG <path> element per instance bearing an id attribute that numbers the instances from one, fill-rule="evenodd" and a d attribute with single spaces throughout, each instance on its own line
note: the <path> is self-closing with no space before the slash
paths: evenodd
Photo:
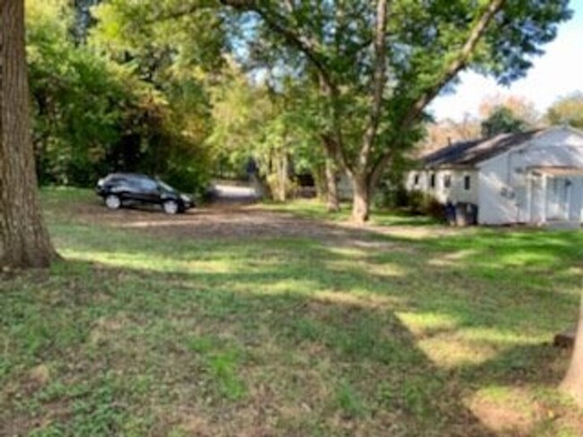
<path id="1" fill-rule="evenodd" d="M 201 59 L 185 50 L 165 58 L 164 64 L 146 65 L 136 55 L 143 60 L 153 56 L 144 39 L 129 39 L 136 48 L 115 46 L 129 26 L 123 21 L 129 15 L 116 12 L 130 4 L 114 2 L 94 10 L 100 21 L 85 45 L 71 37 L 69 2 L 27 3 L 39 180 L 89 186 L 110 171 L 125 170 L 161 176 L 182 190 L 202 193 L 210 176 L 204 141 L 211 124 L 204 75 L 196 64 Z M 187 33 L 194 34 L 194 24 L 187 24 L 173 35 L 181 47 L 187 47 Z M 172 44 L 168 25 L 163 34 L 164 44 Z M 111 47 L 100 44 L 103 35 L 111 37 Z"/>

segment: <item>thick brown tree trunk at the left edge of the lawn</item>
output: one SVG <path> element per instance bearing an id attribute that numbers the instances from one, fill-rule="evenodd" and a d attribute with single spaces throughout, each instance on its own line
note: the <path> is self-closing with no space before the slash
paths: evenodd
<path id="1" fill-rule="evenodd" d="M 24 1 L 0 2 L 0 268 L 47 267 L 56 253 L 37 199 Z"/>

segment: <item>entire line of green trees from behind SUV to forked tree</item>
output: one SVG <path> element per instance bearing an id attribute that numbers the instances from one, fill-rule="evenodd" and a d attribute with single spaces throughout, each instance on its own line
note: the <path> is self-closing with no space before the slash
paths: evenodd
<path id="1" fill-rule="evenodd" d="M 329 210 L 346 176 L 362 223 L 458 73 L 523 77 L 570 14 L 567 0 L 28 0 L 37 176 L 139 171 L 200 193 L 251 160 L 279 199 L 291 167 L 314 176 Z"/>

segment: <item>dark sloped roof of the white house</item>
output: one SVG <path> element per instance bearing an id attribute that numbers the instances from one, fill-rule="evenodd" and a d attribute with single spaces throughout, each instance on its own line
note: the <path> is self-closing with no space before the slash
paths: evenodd
<path id="1" fill-rule="evenodd" d="M 425 155 L 422 164 L 424 167 L 473 167 L 532 140 L 541 132 L 542 129 L 536 129 L 525 133 L 502 133 L 482 140 L 456 142 Z"/>

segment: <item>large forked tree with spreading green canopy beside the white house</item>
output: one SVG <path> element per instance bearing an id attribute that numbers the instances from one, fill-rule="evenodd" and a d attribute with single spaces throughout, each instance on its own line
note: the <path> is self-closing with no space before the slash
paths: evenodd
<path id="1" fill-rule="evenodd" d="M 570 17 L 567 0 L 375 2 L 221 0 L 245 18 L 248 55 L 284 45 L 318 76 L 326 150 L 369 218 L 380 175 L 420 136 L 427 105 L 466 69 L 508 83 Z M 196 4 L 191 4 L 195 7 Z M 200 6 L 200 4 L 198 4 Z M 259 38 L 258 38 L 259 37 Z"/>

